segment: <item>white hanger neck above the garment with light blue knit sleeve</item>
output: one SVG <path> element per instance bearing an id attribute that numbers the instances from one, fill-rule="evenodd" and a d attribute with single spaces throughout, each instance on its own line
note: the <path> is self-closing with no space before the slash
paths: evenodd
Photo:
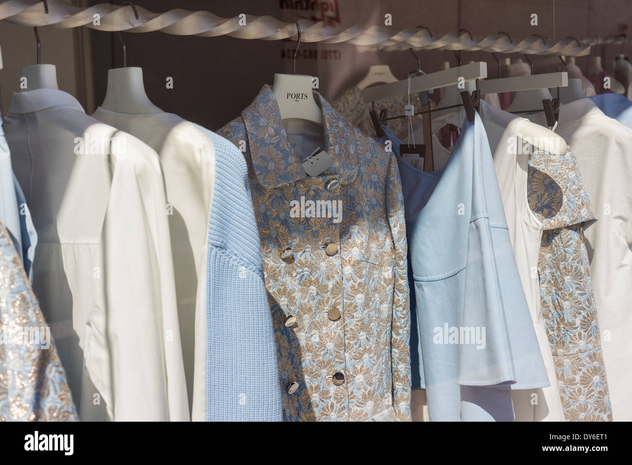
<path id="1" fill-rule="evenodd" d="M 143 70 L 138 67 L 114 68 L 107 71 L 106 98 L 100 107 L 127 115 L 164 113 L 145 94 Z"/>

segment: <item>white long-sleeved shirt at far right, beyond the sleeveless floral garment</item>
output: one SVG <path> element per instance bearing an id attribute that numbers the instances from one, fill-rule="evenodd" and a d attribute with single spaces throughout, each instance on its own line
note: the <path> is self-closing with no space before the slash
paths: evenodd
<path id="1" fill-rule="evenodd" d="M 530 119 L 542 124 L 544 116 Z M 560 107 L 556 133 L 573 149 L 597 211 L 597 221 L 585 230 L 585 243 L 612 418 L 632 421 L 632 129 L 586 98 Z"/>

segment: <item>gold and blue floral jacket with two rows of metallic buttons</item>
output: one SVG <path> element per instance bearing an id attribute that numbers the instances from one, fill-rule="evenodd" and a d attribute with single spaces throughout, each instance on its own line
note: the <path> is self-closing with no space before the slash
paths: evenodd
<path id="1" fill-rule="evenodd" d="M 410 421 L 406 230 L 397 162 L 318 92 L 314 97 L 334 160 L 317 177 L 303 170 L 269 85 L 219 130 L 245 147 L 284 419 Z M 340 200 L 341 222 L 307 218 L 307 211 L 293 218 L 290 202 L 301 196 Z"/>

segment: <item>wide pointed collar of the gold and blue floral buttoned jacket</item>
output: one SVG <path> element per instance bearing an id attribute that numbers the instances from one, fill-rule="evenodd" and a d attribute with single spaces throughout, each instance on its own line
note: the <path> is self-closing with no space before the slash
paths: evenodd
<path id="1" fill-rule="evenodd" d="M 322 109 L 324 150 L 334 161 L 334 166 L 327 168 L 322 176 L 337 175 L 341 184 L 349 184 L 357 175 L 359 156 L 370 151 L 376 142 L 337 113 L 319 92 L 314 90 L 313 96 Z M 253 171 L 263 187 L 274 189 L 308 177 L 283 128 L 272 87 L 264 85 L 241 116 Z"/>

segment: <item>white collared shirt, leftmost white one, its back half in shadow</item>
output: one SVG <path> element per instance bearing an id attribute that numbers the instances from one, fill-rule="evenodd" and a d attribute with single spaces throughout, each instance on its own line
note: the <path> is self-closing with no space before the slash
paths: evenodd
<path id="1" fill-rule="evenodd" d="M 40 240 L 33 290 L 82 420 L 189 419 L 159 159 L 66 92 L 5 118 Z"/>

